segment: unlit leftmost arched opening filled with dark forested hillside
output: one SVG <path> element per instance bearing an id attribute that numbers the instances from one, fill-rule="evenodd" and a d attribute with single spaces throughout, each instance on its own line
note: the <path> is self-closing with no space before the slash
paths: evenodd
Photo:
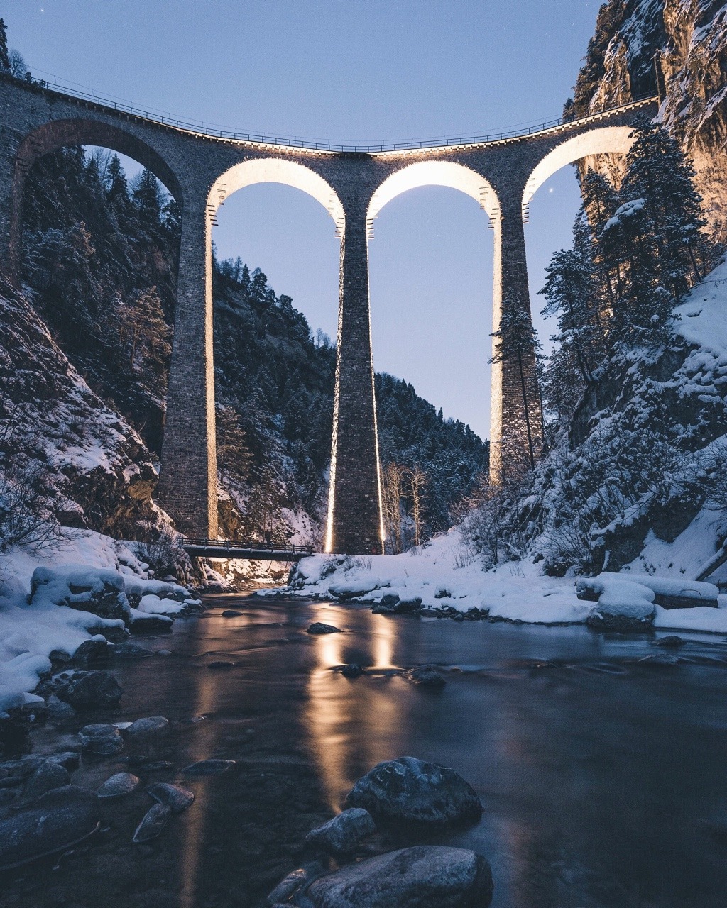
<path id="1" fill-rule="evenodd" d="M 158 153 L 104 123 L 49 123 L 18 149 L 18 279 L 76 370 L 157 456 L 181 202 Z"/>

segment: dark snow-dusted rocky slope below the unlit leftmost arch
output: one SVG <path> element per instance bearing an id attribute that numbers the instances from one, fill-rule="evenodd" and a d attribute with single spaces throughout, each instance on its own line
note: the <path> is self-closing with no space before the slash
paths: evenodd
<path id="1" fill-rule="evenodd" d="M 140 538 L 164 515 L 142 439 L 90 390 L 27 298 L 0 279 L 0 480 L 43 487 L 60 523 Z"/>

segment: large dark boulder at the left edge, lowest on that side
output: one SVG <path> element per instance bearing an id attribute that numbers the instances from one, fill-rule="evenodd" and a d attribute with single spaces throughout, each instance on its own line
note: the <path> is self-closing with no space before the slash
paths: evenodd
<path id="1" fill-rule="evenodd" d="M 41 795 L 33 807 L 0 822 L 0 870 L 65 851 L 98 828 L 94 795 L 65 785 Z"/>

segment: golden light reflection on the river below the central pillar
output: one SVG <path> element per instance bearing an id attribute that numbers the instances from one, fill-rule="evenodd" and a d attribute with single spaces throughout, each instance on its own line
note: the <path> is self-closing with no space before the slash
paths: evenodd
<path id="1" fill-rule="evenodd" d="M 317 617 L 316 620 L 324 620 Z M 392 667 L 396 622 L 374 618 L 371 657 L 365 667 Z M 345 663 L 347 638 L 330 634 L 316 639 L 317 665 L 308 678 L 304 722 L 318 763 L 328 804 L 334 811 L 364 771 L 391 758 L 400 738 L 400 698 L 387 689 L 395 678 L 355 680 L 331 669 Z M 357 641 L 360 646 L 360 639 Z M 394 748 L 395 749 L 395 748 Z"/>

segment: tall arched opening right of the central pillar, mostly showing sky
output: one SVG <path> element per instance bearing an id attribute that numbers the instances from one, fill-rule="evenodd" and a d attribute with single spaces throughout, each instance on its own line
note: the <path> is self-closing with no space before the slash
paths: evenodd
<path id="1" fill-rule="evenodd" d="M 387 373 L 377 380 L 377 406 L 384 416 L 379 418 L 379 447 L 388 549 L 394 548 L 396 532 L 389 487 L 398 481 L 391 465 L 398 455 L 400 465 L 411 470 L 418 459 L 415 446 L 407 448 L 409 429 L 417 444 L 429 443 L 432 448 L 422 454 L 431 473 L 426 489 L 430 529 L 452 525 L 455 497 L 466 495 L 474 476 L 487 469 L 482 446 L 473 441 L 465 450 L 464 427 L 471 427 L 481 439 L 489 435 L 493 243 L 488 242 L 487 227 L 498 207 L 492 186 L 480 174 L 441 161 L 413 163 L 396 171 L 374 192 L 369 205 L 373 361 L 378 372 Z M 396 380 L 404 380 L 433 404 L 431 427 L 429 415 L 415 401 L 407 402 L 405 409 L 397 403 L 400 398 L 408 400 L 413 390 Z M 413 423 L 408 428 L 407 419 Z M 443 438 L 447 419 L 453 420 L 449 435 L 454 445 L 462 443 L 462 456 L 440 449 L 439 433 Z M 457 421 L 461 437 L 455 439 Z M 404 521 L 411 533 L 417 522 L 415 493 L 406 486 L 404 480 Z M 400 539 L 396 548 L 399 543 L 405 547 L 406 539 Z"/>

